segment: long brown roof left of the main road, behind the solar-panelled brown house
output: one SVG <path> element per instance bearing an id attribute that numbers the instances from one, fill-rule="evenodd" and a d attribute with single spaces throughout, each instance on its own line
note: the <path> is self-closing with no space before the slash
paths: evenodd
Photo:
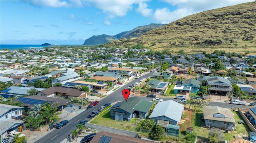
<path id="1" fill-rule="evenodd" d="M 50 95 L 53 93 L 65 93 L 66 95 L 76 96 L 76 97 L 79 97 L 82 95 L 82 91 L 78 89 L 66 88 L 66 87 L 52 87 L 46 90 L 42 90 L 40 92 L 42 92 L 45 95 Z"/>

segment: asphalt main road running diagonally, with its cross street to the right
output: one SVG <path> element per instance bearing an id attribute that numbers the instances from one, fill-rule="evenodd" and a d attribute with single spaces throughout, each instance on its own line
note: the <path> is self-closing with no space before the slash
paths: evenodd
<path id="1" fill-rule="evenodd" d="M 143 78 L 143 77 L 147 78 L 152 75 L 153 75 L 153 72 L 150 72 L 148 74 L 144 74 L 143 76 L 140 76 L 140 78 Z M 44 137 L 40 138 L 35 143 L 60 143 L 66 137 L 68 137 L 68 135 L 70 135 L 74 129 L 76 129 L 76 125 L 77 125 L 77 123 L 80 122 L 80 120 L 82 120 L 82 119 L 88 119 L 88 121 L 91 120 L 90 118 L 87 118 L 87 116 L 90 114 L 90 112 L 97 111 L 98 108 L 100 106 L 103 106 L 105 103 L 114 103 L 114 102 L 124 100 L 124 97 L 122 96 L 122 90 L 127 88 L 128 86 L 134 84 L 135 82 L 139 82 L 140 78 L 135 79 L 135 80 L 129 82 L 128 84 L 118 88 L 115 92 L 112 92 L 112 94 L 110 94 L 110 95 L 106 96 L 105 98 L 103 98 L 102 100 L 100 100 L 99 104 L 96 105 L 95 107 L 89 108 L 88 110 L 83 111 L 82 113 L 78 114 L 75 118 L 70 119 L 69 123 L 67 125 L 64 125 L 64 127 L 60 128 L 60 129 L 54 129 L 53 131 L 51 131 Z M 148 101 L 152 100 L 152 98 L 146 98 L 144 96 L 138 96 L 138 97 L 143 100 L 148 100 Z M 164 101 L 170 100 L 170 99 L 176 101 L 176 99 L 174 99 L 174 98 L 161 98 L 161 99 L 163 99 Z M 210 106 L 220 106 L 223 108 L 231 108 L 231 104 L 228 104 L 228 103 L 209 102 L 209 104 L 210 104 Z M 233 108 L 238 108 L 238 107 L 244 107 L 244 106 L 233 105 Z"/>

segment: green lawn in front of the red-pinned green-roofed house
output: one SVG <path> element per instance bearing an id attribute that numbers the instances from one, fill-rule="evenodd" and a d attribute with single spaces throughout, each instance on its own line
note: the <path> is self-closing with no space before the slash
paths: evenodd
<path id="1" fill-rule="evenodd" d="M 138 131 L 137 129 L 140 127 L 142 120 L 132 118 L 131 121 L 115 121 L 110 119 L 110 110 L 104 110 L 99 116 L 90 121 L 90 123 L 129 131 Z"/>

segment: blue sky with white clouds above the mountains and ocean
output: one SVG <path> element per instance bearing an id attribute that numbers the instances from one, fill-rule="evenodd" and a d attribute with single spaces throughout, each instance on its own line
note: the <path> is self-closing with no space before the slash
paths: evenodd
<path id="1" fill-rule="evenodd" d="M 253 0 L 1 0 L 1 44 L 82 45 L 148 24 Z"/>

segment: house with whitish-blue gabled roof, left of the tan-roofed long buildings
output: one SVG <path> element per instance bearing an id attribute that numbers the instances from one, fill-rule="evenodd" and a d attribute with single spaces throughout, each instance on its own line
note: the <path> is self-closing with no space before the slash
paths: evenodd
<path id="1" fill-rule="evenodd" d="M 52 87 L 56 83 L 61 83 L 62 85 L 65 84 L 66 82 L 72 82 L 75 80 L 80 79 L 80 75 L 76 72 L 68 72 L 69 74 L 63 73 L 64 76 L 60 76 L 57 78 L 52 79 Z"/>

